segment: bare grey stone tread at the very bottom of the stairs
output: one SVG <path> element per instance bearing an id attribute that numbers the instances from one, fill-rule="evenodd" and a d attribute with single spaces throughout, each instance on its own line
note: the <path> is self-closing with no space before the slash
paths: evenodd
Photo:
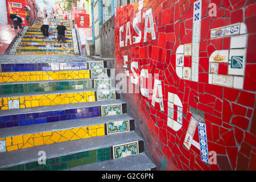
<path id="1" fill-rule="evenodd" d="M 155 164 L 142 152 L 125 158 L 72 167 L 64 171 L 155 171 Z M 127 176 L 125 176 L 127 177 Z M 133 177 L 133 176 L 131 176 Z M 123 176 L 121 177 L 121 179 Z"/>

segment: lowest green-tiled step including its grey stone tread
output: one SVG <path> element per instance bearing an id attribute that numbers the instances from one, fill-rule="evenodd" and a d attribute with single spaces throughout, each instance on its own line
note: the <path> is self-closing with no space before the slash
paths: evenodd
<path id="1" fill-rule="evenodd" d="M 84 164 L 100 162 L 100 158 L 104 158 L 104 155 L 106 160 L 114 159 L 117 156 L 113 154 L 113 151 L 117 150 L 118 146 L 131 143 L 137 144 L 136 153 L 142 153 L 144 151 L 144 143 L 142 138 L 139 137 L 139 135 L 135 133 L 135 131 L 130 131 L 117 133 L 114 135 L 104 135 L 101 137 L 93 137 L 88 139 L 71 140 L 61 143 L 47 144 L 44 146 L 35 146 L 22 150 L 2 152 L 0 153 L 0 158 L 2 159 L 0 160 L 0 168 L 2 168 L 2 170 L 28 170 L 43 168 L 43 166 L 40 166 L 38 164 L 38 159 L 40 156 L 38 155 L 39 151 L 43 151 L 44 154 L 46 154 L 46 164 L 53 164 L 53 166 L 50 167 L 51 170 L 67 169 Z M 105 152 L 105 154 L 100 157 L 99 155 L 97 155 L 98 152 L 100 153 L 101 151 L 99 149 L 103 149 L 103 151 L 108 152 Z M 76 156 L 79 156 L 79 154 L 82 155 L 81 152 L 86 151 L 89 151 L 89 154 L 94 154 L 96 156 L 94 156 L 94 159 L 90 160 L 90 162 L 86 159 L 84 162 L 81 160 L 79 161 Z M 61 160 L 61 163 L 64 163 L 64 165 L 61 166 L 64 167 L 60 167 L 57 169 L 54 167 L 56 158 L 64 159 Z M 72 159 L 77 160 L 71 162 Z M 68 163 L 68 161 L 70 161 L 70 163 Z"/>

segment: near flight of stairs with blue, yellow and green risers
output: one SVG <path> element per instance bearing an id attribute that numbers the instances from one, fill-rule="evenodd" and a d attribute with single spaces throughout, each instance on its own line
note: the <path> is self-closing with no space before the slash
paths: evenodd
<path id="1" fill-rule="evenodd" d="M 25 39 L 16 53 L 35 43 Z M 1 170 L 156 169 L 115 90 L 113 61 L 0 56 Z"/>

